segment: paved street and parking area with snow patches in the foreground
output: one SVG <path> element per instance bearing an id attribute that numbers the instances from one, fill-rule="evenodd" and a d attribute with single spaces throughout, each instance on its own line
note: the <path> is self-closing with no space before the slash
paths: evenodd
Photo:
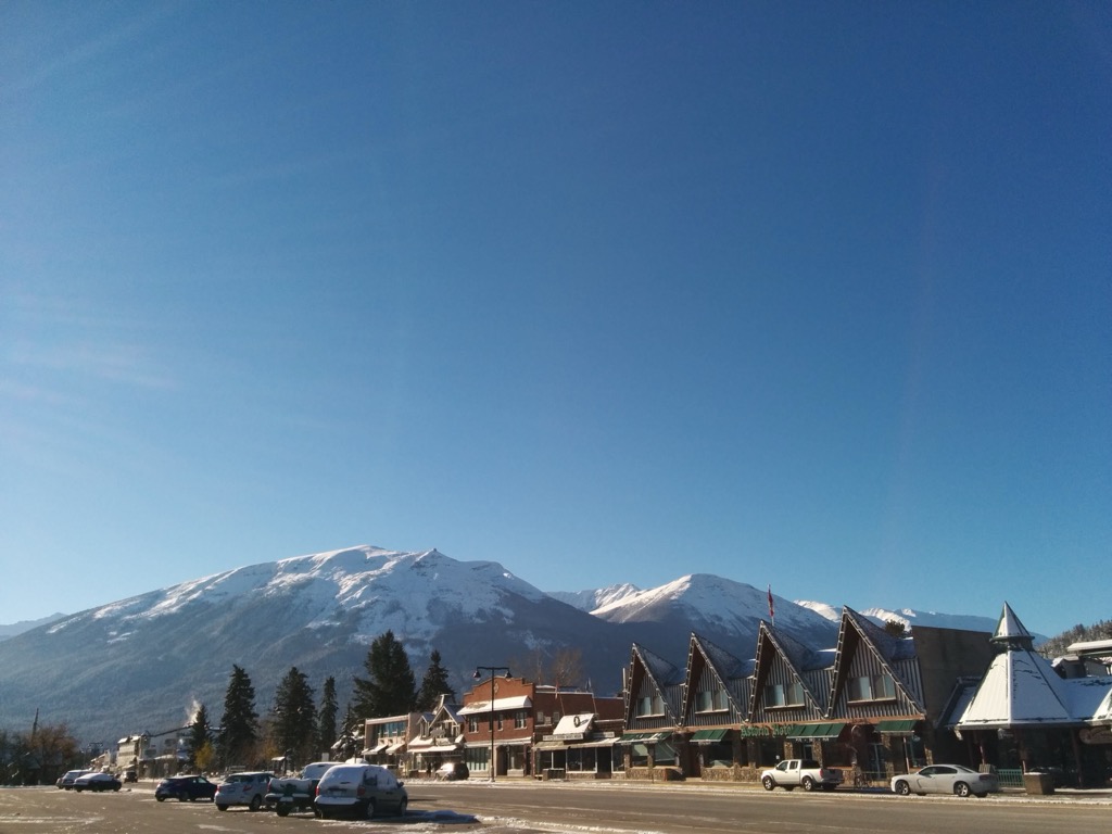
<path id="1" fill-rule="evenodd" d="M 405 818 L 319 821 L 310 815 L 218 812 L 209 803 L 156 803 L 153 785 L 119 794 L 0 788 L 0 834 L 1106 834 L 1112 798 L 986 800 L 891 794 L 791 794 L 695 785 L 411 782 Z"/>

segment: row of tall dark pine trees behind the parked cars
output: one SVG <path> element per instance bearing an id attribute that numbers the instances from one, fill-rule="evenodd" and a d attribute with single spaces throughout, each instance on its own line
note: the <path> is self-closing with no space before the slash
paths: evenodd
<path id="1" fill-rule="evenodd" d="M 197 708 L 188 739 L 190 764 L 199 771 L 211 771 L 261 764 L 279 756 L 304 764 L 321 751 L 330 749 L 345 729 L 360 725 L 365 718 L 427 712 L 436 706 L 440 695 L 455 697 L 440 653 L 433 649 L 418 687 L 405 647 L 393 632 L 374 639 L 364 667 L 367 677 L 353 678 L 351 703 L 342 725 L 338 725 L 334 676 L 325 679 L 317 703 L 308 676 L 291 666 L 275 691 L 269 712 L 260 719 L 251 678 L 242 667 L 234 665 L 219 724 L 214 727 L 205 704 Z M 358 744 L 357 739 L 349 741 Z"/>

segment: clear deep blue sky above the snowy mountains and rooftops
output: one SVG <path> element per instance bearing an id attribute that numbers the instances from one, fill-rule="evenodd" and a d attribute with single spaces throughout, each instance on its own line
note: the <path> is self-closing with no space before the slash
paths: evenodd
<path id="1" fill-rule="evenodd" d="M 355 544 L 1108 618 L 1110 43 L 1099 2 L 0 4 L 0 622 Z"/>

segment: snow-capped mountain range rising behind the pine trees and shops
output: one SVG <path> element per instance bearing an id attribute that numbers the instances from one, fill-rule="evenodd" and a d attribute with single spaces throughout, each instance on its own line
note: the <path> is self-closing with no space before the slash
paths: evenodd
<path id="1" fill-rule="evenodd" d="M 778 628 L 815 645 L 836 641 L 828 612 L 783 597 L 774 605 Z M 683 666 L 696 632 L 745 658 L 767 617 L 767 592 L 706 574 L 648 590 L 545 594 L 494 562 L 351 547 L 226 570 L 0 642 L 0 727 L 29 725 L 38 709 L 40 722 L 100 739 L 182 726 L 198 703 L 219 717 L 234 664 L 250 676 L 260 715 L 290 666 L 317 692 L 335 677 L 342 707 L 387 629 L 418 678 L 438 651 L 457 694 L 476 666 L 535 677 L 538 658 L 570 648 L 584 682 L 612 695 L 633 643 Z"/>

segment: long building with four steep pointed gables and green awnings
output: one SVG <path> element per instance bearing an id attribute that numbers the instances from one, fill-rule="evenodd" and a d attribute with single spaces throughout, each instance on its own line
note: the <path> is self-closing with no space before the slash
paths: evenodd
<path id="1" fill-rule="evenodd" d="M 814 758 L 857 783 L 952 759 L 939 732 L 955 682 L 981 675 L 990 635 L 920 626 L 894 636 L 844 608 L 835 646 L 762 623 L 753 659 L 693 634 L 686 669 L 634 645 L 626 673 L 627 778 L 757 781 Z"/>

